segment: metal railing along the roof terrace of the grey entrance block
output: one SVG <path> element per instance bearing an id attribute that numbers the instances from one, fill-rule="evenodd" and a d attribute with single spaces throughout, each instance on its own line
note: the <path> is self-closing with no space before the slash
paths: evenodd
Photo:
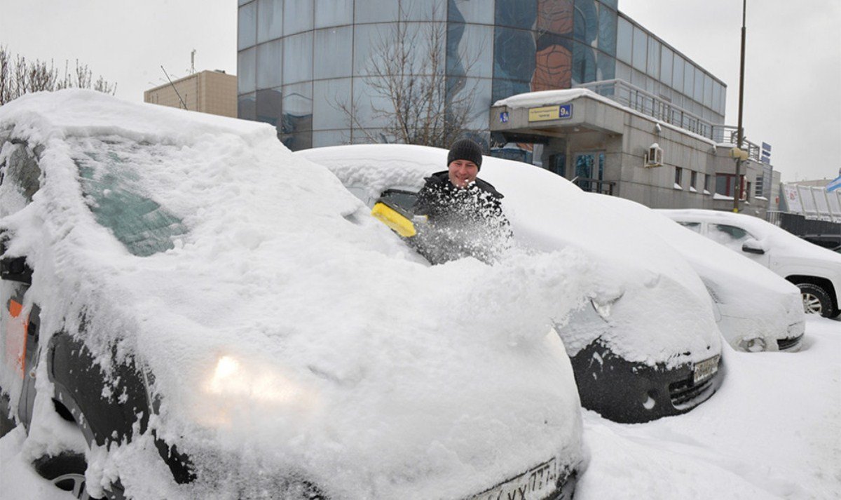
<path id="1" fill-rule="evenodd" d="M 655 120 L 689 130 L 694 134 L 715 141 L 717 144 L 736 146 L 738 142 L 738 127 L 713 124 L 711 121 L 704 120 L 697 114 L 680 108 L 680 106 L 638 88 L 625 80 L 615 78 L 600 82 L 581 83 L 575 88 L 586 88 Z M 743 147 L 748 150 L 748 155 L 759 162 L 761 148 L 746 139 L 742 141 Z"/>

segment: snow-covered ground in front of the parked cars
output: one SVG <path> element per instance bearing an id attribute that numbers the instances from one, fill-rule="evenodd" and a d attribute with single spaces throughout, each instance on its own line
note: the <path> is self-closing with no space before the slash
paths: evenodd
<path id="1" fill-rule="evenodd" d="M 841 322 L 807 319 L 800 353 L 725 347 L 721 389 L 692 412 L 617 424 L 584 413 L 578 500 L 841 497 Z M 67 499 L 0 439 L 0 498 Z"/>

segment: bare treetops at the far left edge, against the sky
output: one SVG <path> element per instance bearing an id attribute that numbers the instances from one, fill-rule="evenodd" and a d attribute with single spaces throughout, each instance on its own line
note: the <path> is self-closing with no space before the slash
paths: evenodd
<path id="1" fill-rule="evenodd" d="M 0 106 L 24 93 L 54 91 L 62 88 L 93 88 L 102 93 L 114 95 L 117 84 L 106 81 L 103 77 L 93 80 L 93 72 L 86 64 L 76 61 L 76 71 L 69 71 L 70 63 L 65 63 L 64 77 L 52 61 L 48 65 L 45 61 L 26 61 L 25 57 L 16 56 L 12 59 L 5 46 L 0 45 Z"/>

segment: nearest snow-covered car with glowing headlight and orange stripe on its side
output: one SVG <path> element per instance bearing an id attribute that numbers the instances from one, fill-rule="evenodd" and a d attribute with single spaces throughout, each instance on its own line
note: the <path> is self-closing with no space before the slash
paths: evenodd
<path id="1" fill-rule="evenodd" d="M 3 105 L 0 176 L 0 421 L 56 486 L 569 497 L 574 263 L 430 268 L 273 127 L 101 93 Z"/>

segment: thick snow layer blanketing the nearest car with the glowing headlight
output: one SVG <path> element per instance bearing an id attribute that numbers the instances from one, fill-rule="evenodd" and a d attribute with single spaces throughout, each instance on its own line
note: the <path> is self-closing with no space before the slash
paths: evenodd
<path id="1" fill-rule="evenodd" d="M 189 439 L 197 464 L 235 455 L 335 497 L 426 498 L 579 457 L 578 394 L 547 333 L 580 304 L 584 258 L 430 267 L 270 125 L 68 90 L 4 105 L 3 135 L 43 171 L 0 220 L 34 267 L 26 306 L 51 305 L 42 332 L 83 327 L 103 366 L 114 346 L 140 356 L 158 435 Z M 155 231 L 108 210 L 114 196 Z M 146 456 L 132 445 L 93 470 Z M 123 483 L 161 487 L 149 479 Z"/>

